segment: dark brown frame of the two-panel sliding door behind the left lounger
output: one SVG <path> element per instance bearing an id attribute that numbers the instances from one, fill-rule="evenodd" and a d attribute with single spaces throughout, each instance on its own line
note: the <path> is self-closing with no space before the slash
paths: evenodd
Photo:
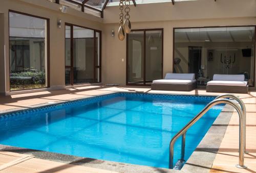
<path id="1" fill-rule="evenodd" d="M 126 85 L 129 85 L 129 86 L 151 86 L 150 84 L 146 84 L 146 31 L 161 31 L 162 32 L 162 57 L 161 57 L 161 60 L 162 60 L 162 63 L 161 63 L 161 70 L 162 70 L 162 78 L 163 78 L 163 28 L 155 28 L 155 29 L 135 29 L 135 30 L 132 30 L 131 32 L 133 31 L 143 31 L 144 33 L 144 43 L 143 43 L 143 52 L 144 52 L 144 55 L 143 55 L 143 84 L 129 84 L 129 34 L 126 34 Z"/>

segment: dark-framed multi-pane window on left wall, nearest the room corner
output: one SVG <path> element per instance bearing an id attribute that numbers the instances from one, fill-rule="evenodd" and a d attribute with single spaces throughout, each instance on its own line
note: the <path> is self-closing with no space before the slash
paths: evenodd
<path id="1" fill-rule="evenodd" d="M 101 82 L 101 32 L 66 24 L 66 85 Z"/>

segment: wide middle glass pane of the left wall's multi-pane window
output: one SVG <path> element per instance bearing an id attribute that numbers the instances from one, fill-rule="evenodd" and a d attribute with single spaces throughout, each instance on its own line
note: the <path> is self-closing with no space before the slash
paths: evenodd
<path id="1" fill-rule="evenodd" d="M 74 84 L 94 83 L 94 31 L 73 27 Z"/>

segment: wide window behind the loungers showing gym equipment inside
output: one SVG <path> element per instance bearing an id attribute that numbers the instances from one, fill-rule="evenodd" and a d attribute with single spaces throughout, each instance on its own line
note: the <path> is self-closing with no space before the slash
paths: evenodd
<path id="1" fill-rule="evenodd" d="M 254 85 L 255 26 L 182 28 L 174 34 L 174 72 L 206 81 L 214 74 L 244 74 Z"/>

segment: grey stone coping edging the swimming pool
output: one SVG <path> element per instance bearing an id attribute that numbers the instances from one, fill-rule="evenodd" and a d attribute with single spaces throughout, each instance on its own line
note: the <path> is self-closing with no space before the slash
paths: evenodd
<path id="1" fill-rule="evenodd" d="M 112 94 L 112 93 L 216 96 L 216 95 L 195 95 L 195 94 L 145 93 L 145 92 L 134 92 L 134 91 L 128 91 L 128 92 L 127 91 L 125 92 L 111 91 L 108 93 L 101 93 L 101 94 L 95 94 L 92 96 L 79 97 L 79 98 L 74 98 L 67 101 L 59 101 L 56 103 L 45 103 L 45 104 L 33 105 L 33 106 L 30 106 L 29 108 L 16 108 L 16 109 L 10 109 L 6 111 L 0 111 L 0 116 L 3 114 L 19 112 L 19 111 L 24 111 L 28 109 L 35 109 L 39 107 L 54 106 L 54 105 L 59 105 L 61 103 L 66 103 L 70 101 L 79 101 L 79 100 L 84 100 L 84 98 L 102 96 L 102 95 Z M 214 159 L 216 157 L 216 154 L 219 150 L 221 141 L 226 132 L 227 125 L 230 121 L 233 110 L 234 109 L 228 105 L 226 105 L 223 108 L 222 112 L 216 118 L 215 122 L 212 124 L 208 132 L 205 134 L 204 138 L 201 140 L 201 142 L 197 146 L 196 150 L 189 157 L 186 164 L 182 167 L 181 170 L 157 168 L 157 167 L 151 167 L 151 166 L 142 166 L 142 165 L 112 162 L 112 161 L 106 161 L 106 160 L 76 157 L 72 155 L 63 155 L 63 154 L 57 154 L 52 152 L 24 149 L 20 147 L 13 147 L 13 146 L 2 145 L 2 144 L 0 144 L 0 150 L 21 153 L 21 154 L 33 154 L 35 155 L 36 158 L 40 158 L 40 159 L 70 163 L 75 165 L 84 165 L 88 167 L 95 167 L 95 168 L 101 168 L 101 169 L 119 171 L 119 172 L 177 172 L 177 173 L 178 172 L 209 172 L 214 162 Z"/>

